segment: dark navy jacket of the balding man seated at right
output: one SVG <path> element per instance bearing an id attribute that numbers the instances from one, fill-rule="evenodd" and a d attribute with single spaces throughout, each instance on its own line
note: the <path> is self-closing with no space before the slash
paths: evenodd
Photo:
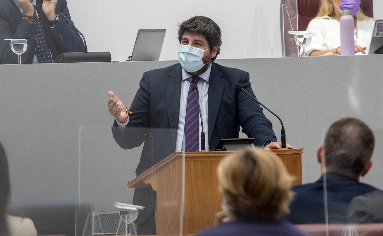
<path id="1" fill-rule="evenodd" d="M 329 223 L 346 223 L 351 200 L 376 190 L 368 184 L 333 173 L 326 175 L 326 184 Z M 285 219 L 294 224 L 325 223 L 323 177 L 314 183 L 294 186 L 292 190 L 296 194 L 290 205 L 291 213 Z"/>

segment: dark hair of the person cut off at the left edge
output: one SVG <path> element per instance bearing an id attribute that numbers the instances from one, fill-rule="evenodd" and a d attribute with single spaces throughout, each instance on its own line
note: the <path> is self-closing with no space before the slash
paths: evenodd
<path id="1" fill-rule="evenodd" d="M 0 143 L 0 236 L 7 234 L 5 209 L 10 197 L 8 160 L 3 145 Z"/>

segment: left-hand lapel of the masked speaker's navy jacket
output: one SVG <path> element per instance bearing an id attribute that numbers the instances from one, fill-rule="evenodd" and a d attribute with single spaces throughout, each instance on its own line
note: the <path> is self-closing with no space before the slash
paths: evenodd
<path id="1" fill-rule="evenodd" d="M 170 129 L 174 130 L 178 129 L 178 118 L 180 116 L 181 72 L 182 68 L 178 65 L 169 73 L 169 77 L 165 78 L 166 108 L 169 117 Z M 177 132 L 170 132 L 170 134 L 175 146 Z"/>

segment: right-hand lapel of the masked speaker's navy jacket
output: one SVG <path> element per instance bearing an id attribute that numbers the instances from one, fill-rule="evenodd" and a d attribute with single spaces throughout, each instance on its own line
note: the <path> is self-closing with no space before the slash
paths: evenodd
<path id="1" fill-rule="evenodd" d="M 225 80 L 222 78 L 223 75 L 219 72 L 215 63 L 211 65 L 211 73 L 209 80 L 209 98 L 208 98 L 208 138 L 209 146 L 211 135 L 214 130 L 215 122 L 217 120 L 217 115 L 219 111 L 219 105 L 221 104 L 221 98 L 223 94 L 223 89 L 225 86 Z M 214 147 L 210 146 L 210 149 Z"/>

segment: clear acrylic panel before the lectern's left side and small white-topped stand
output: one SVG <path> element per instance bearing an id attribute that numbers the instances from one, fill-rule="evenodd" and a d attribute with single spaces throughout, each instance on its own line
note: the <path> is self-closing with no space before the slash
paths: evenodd
<path id="1" fill-rule="evenodd" d="M 80 128 L 77 235 L 182 234 L 184 155 L 169 156 L 177 130 L 113 132 L 132 149 L 111 127 Z"/>

